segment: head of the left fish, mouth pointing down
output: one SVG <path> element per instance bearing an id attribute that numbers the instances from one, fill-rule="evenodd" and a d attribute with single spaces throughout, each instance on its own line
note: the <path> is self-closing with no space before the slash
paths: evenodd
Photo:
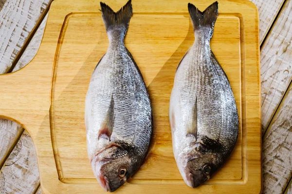
<path id="1" fill-rule="evenodd" d="M 137 160 L 120 146 L 112 146 L 92 160 L 96 179 L 105 191 L 114 192 L 121 187 L 137 169 Z"/>

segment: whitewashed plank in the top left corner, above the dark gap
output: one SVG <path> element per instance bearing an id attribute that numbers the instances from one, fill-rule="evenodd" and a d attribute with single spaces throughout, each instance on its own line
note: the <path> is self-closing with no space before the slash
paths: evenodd
<path id="1" fill-rule="evenodd" d="M 6 73 L 50 0 L 7 0 L 0 12 L 0 74 Z"/>

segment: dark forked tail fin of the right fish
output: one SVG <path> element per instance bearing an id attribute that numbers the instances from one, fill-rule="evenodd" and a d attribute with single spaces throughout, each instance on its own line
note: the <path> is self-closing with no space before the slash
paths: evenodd
<path id="1" fill-rule="evenodd" d="M 188 3 L 188 10 L 192 19 L 194 31 L 199 30 L 202 27 L 209 27 L 212 29 L 212 37 L 215 21 L 218 16 L 218 1 L 212 3 L 203 12 L 201 12 L 195 5 Z"/>

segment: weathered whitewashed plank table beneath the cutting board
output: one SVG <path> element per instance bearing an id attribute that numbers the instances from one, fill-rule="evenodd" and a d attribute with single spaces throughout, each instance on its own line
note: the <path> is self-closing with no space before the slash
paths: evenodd
<path id="1" fill-rule="evenodd" d="M 252 1 L 260 20 L 262 191 L 292 194 L 292 0 Z M 50 2 L 0 0 L 0 73 L 33 59 Z M 32 139 L 18 124 L 0 120 L 0 194 L 40 194 L 39 186 Z"/>

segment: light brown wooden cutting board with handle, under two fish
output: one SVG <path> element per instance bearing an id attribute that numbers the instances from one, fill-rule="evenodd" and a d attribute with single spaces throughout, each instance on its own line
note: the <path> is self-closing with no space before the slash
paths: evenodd
<path id="1" fill-rule="evenodd" d="M 187 3 L 201 11 L 213 0 L 133 0 L 125 44 L 151 97 L 154 131 L 139 171 L 115 193 L 259 193 L 261 129 L 258 13 L 248 0 L 219 0 L 211 48 L 231 82 L 239 114 L 237 145 L 226 164 L 198 188 L 176 166 L 168 121 L 176 67 L 194 42 Z M 126 0 L 107 0 L 119 10 Z M 31 134 L 44 194 L 105 193 L 86 151 L 84 103 L 91 74 L 108 48 L 98 0 L 55 0 L 33 61 L 0 75 L 0 117 Z"/>

